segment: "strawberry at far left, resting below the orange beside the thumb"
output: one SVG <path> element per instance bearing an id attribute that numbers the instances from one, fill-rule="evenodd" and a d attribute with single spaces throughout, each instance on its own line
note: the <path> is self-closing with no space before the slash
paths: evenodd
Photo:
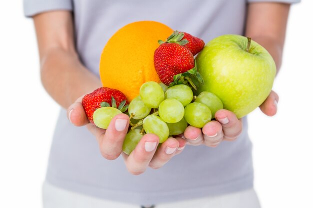
<path id="1" fill-rule="evenodd" d="M 82 98 L 82 106 L 88 120 L 93 123 L 93 112 L 100 107 L 111 106 L 124 112 L 128 108 L 126 96 L 119 90 L 100 87 Z"/>

